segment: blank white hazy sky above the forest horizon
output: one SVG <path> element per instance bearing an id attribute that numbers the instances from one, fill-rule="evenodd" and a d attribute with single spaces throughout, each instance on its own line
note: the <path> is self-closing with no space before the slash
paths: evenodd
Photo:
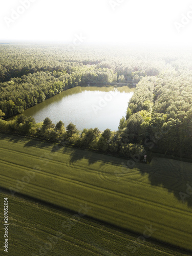
<path id="1" fill-rule="evenodd" d="M 1 40 L 192 43 L 187 0 L 2 0 L 0 15 Z"/>

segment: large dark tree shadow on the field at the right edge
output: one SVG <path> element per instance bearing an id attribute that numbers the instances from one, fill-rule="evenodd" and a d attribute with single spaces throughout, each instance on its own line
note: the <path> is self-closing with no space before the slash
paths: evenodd
<path id="1" fill-rule="evenodd" d="M 179 201 L 192 207 L 192 163 L 154 158 L 146 166 L 145 173 L 152 185 L 166 188 Z"/>

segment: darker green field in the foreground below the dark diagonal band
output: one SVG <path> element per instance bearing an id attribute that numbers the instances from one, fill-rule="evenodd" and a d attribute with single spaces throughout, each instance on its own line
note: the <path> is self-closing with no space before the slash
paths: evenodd
<path id="1" fill-rule="evenodd" d="M 8 255 L 11 256 L 186 255 L 147 239 L 144 243 L 134 243 L 138 239 L 136 234 L 86 217 L 77 221 L 72 212 L 25 197 L 11 197 L 5 190 L 0 194 L 1 205 L 5 197 L 9 204 Z M 63 228 L 62 223 L 70 223 L 71 229 Z M 3 236 L 0 229 L 1 244 Z M 0 254 L 6 255 L 2 247 Z"/>

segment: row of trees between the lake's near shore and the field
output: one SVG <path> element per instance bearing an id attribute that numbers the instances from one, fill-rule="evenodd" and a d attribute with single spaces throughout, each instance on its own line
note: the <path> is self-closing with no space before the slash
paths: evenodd
<path id="1" fill-rule="evenodd" d="M 78 131 L 73 123 L 66 128 L 62 121 L 56 125 L 50 118 L 44 122 L 36 123 L 34 118 L 19 115 L 11 121 L 3 120 L 5 114 L 0 111 L 0 131 L 4 133 L 16 133 L 19 135 L 56 141 L 62 145 L 73 145 L 79 148 L 94 150 L 105 154 L 121 157 L 131 157 L 135 154 L 144 154 L 142 145 L 133 143 L 121 143 L 119 132 L 106 129 L 100 132 L 95 129 L 83 129 Z"/>

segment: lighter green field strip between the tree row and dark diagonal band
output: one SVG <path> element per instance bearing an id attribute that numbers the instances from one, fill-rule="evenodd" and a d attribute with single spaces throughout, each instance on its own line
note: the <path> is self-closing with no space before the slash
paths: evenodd
<path id="1" fill-rule="evenodd" d="M 87 203 L 92 218 L 140 234 L 151 225 L 153 239 L 192 250 L 192 196 L 179 195 L 192 186 L 191 163 L 154 158 L 126 169 L 123 159 L 36 140 L 0 143 L 1 187 L 73 211 Z"/>

